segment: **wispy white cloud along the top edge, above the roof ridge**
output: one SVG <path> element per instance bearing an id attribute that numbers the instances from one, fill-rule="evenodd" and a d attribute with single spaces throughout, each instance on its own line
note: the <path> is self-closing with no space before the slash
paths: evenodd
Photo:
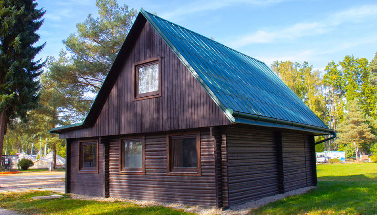
<path id="1" fill-rule="evenodd" d="M 176 17 L 185 16 L 190 13 L 202 12 L 208 10 L 216 10 L 226 6 L 231 6 L 236 3 L 243 3 L 255 6 L 268 6 L 272 4 L 277 4 L 283 1 L 291 0 L 207 0 L 207 1 L 194 1 L 188 5 L 184 5 L 173 11 L 164 13 L 161 17 L 166 19 L 173 19 Z"/>

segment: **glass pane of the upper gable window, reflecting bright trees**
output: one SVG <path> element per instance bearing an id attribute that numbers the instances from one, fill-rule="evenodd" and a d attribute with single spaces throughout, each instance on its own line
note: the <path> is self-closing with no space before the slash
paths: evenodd
<path id="1" fill-rule="evenodd" d="M 158 91 L 158 64 L 138 68 L 138 93 Z"/>

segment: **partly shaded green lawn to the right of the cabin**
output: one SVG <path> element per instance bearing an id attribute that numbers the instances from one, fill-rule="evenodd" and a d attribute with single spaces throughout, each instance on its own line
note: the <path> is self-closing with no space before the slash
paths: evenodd
<path id="1" fill-rule="evenodd" d="M 318 188 L 250 214 L 377 214 L 377 163 L 317 165 Z"/>

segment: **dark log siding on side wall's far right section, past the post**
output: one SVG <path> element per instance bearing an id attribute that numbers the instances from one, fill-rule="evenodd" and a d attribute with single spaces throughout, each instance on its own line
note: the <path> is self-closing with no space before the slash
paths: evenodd
<path id="1" fill-rule="evenodd" d="M 313 184 L 312 152 L 307 135 L 283 133 L 285 192 Z"/>

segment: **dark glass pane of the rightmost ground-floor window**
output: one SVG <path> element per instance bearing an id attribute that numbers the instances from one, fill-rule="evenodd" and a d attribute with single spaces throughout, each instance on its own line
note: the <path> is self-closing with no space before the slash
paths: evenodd
<path id="1" fill-rule="evenodd" d="M 172 167 L 197 167 L 196 138 L 172 139 Z"/>

